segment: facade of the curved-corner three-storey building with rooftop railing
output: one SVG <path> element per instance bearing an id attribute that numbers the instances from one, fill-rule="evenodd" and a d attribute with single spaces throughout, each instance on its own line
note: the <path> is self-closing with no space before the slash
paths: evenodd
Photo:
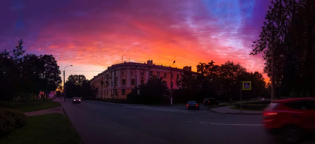
<path id="1" fill-rule="evenodd" d="M 197 72 L 192 71 L 191 66 L 179 69 L 169 65 L 155 64 L 152 60 L 147 62 L 121 61 L 94 76 L 90 80 L 90 84 L 95 90 L 96 98 L 126 99 L 127 94 L 134 90 L 136 85 L 145 84 L 153 75 L 162 77 L 169 89 L 171 85 L 173 85 L 173 89 L 177 89 L 179 85 L 176 82 L 180 80 L 180 73 L 183 73 L 184 70 L 191 71 L 192 75 L 198 75 Z"/>

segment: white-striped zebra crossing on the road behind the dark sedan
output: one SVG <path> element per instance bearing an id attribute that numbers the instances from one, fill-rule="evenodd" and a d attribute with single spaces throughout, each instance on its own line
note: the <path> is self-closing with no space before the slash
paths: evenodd
<path id="1" fill-rule="evenodd" d="M 145 109 L 145 110 L 153 110 L 153 111 L 167 111 L 167 112 L 180 112 L 180 113 L 187 113 L 187 114 L 200 114 L 200 113 L 207 113 L 210 111 L 194 111 L 194 110 L 182 110 L 182 109 L 174 109 L 171 107 L 150 107 L 150 106 L 125 106 L 131 108 L 138 108 L 138 109 Z"/>

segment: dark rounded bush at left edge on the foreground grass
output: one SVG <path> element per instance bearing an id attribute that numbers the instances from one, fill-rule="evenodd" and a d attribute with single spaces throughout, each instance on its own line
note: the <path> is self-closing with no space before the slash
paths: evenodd
<path id="1" fill-rule="evenodd" d="M 26 116 L 10 109 L 0 109 L 0 136 L 11 132 L 16 127 L 24 126 Z"/>

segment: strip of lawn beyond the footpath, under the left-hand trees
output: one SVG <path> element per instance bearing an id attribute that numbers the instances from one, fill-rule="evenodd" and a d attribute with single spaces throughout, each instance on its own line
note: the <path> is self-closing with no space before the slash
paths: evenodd
<path id="1" fill-rule="evenodd" d="M 1 101 L 0 107 L 5 107 L 9 109 L 14 109 L 19 112 L 30 112 L 30 111 L 39 111 L 44 109 L 49 109 L 53 107 L 60 106 L 59 102 L 53 102 L 52 98 L 47 99 L 47 101 L 43 101 L 43 99 L 38 99 L 37 101 L 9 101 L 9 105 L 7 101 Z"/>

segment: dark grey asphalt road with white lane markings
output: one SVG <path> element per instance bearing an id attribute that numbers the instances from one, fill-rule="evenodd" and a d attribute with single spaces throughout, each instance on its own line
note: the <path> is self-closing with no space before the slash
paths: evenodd
<path id="1" fill-rule="evenodd" d="M 85 144 L 266 144 L 278 143 L 263 129 L 262 116 L 229 115 L 186 106 L 121 106 L 82 100 L 61 102 Z"/>

